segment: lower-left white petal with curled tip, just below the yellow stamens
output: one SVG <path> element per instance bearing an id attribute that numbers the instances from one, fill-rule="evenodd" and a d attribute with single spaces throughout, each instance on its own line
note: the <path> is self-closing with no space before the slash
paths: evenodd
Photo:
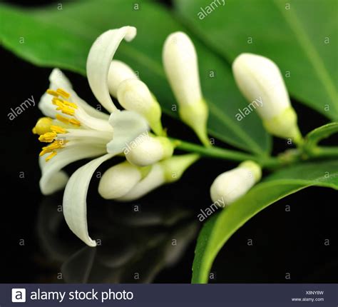
<path id="1" fill-rule="evenodd" d="M 39 158 L 39 164 L 42 172 L 40 179 L 40 189 L 43 195 L 54 193 L 64 186 L 68 181 L 68 176 L 61 169 L 68 164 L 81 160 L 83 158 L 91 158 L 106 153 L 104 146 L 78 145 L 69 146 L 58 150 L 58 154 L 51 158 L 48 162 L 45 161 L 45 154 Z"/>

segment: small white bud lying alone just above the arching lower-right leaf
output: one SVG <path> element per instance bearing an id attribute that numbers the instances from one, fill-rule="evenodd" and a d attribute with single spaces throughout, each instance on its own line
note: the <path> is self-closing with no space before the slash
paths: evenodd
<path id="1" fill-rule="evenodd" d="M 237 198 L 243 196 L 252 186 L 260 181 L 262 171 L 257 163 L 245 161 L 237 168 L 221 173 L 210 187 L 212 201 L 223 201 L 230 205 Z"/>

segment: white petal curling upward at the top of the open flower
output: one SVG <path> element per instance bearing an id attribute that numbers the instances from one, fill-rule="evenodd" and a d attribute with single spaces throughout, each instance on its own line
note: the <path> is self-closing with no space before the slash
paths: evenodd
<path id="1" fill-rule="evenodd" d="M 108 71 L 111 60 L 121 41 L 123 39 L 131 41 L 135 35 L 136 28 L 133 26 L 106 31 L 98 36 L 88 54 L 86 69 L 89 85 L 96 99 L 111 113 L 117 110 L 108 91 Z"/>

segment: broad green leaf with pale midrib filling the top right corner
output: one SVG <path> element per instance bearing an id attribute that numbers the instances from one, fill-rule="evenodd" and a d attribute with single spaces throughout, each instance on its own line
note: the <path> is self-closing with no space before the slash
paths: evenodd
<path id="1" fill-rule="evenodd" d="M 175 7 L 225 59 L 242 52 L 267 56 L 293 97 L 338 119 L 336 0 L 175 0 Z"/>

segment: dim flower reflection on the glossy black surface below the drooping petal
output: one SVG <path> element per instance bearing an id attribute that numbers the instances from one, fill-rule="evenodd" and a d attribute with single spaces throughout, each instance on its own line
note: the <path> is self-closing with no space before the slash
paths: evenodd
<path id="1" fill-rule="evenodd" d="M 61 193 L 44 198 L 37 223 L 43 253 L 61 282 L 151 283 L 180 261 L 198 231 L 193 212 L 180 204 L 106 201 L 96 203 L 100 209 L 89 221 L 98 246 L 83 247 L 68 233 L 61 203 Z"/>

